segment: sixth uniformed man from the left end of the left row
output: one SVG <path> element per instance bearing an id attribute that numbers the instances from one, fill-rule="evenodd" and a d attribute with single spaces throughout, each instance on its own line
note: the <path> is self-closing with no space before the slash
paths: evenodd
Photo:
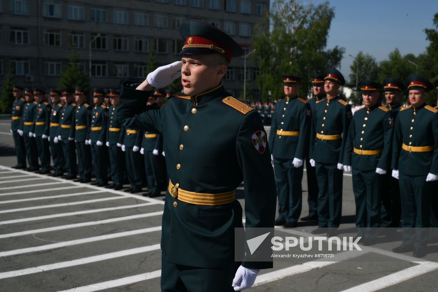
<path id="1" fill-rule="evenodd" d="M 74 142 L 78 154 L 79 178 L 75 182 L 91 182 L 91 149 L 89 140 L 91 124 L 91 107 L 85 103 L 85 91 L 80 87 L 74 89 L 76 110 L 74 113 Z"/>

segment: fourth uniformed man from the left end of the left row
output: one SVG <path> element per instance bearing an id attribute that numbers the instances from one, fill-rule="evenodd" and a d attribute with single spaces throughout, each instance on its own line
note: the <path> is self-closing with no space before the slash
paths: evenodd
<path id="1" fill-rule="evenodd" d="M 49 125 L 49 144 L 52 152 L 53 173 L 49 174 L 54 177 L 64 175 L 64 152 L 62 150 L 62 142 L 58 140 L 59 116 L 62 108 L 60 103 L 61 92 L 56 89 L 50 89 L 50 102 L 52 103 L 52 110 L 50 111 L 50 125 Z"/>

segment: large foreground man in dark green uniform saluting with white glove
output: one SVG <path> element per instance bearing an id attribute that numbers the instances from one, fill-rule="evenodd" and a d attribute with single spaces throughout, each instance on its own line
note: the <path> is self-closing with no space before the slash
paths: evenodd
<path id="1" fill-rule="evenodd" d="M 182 62 L 157 68 L 142 84 L 124 82 L 118 117 L 127 127 L 163 135 L 170 181 L 162 217 L 162 291 L 233 291 L 231 285 L 237 291 L 254 283 L 258 269 L 272 267 L 248 261 L 249 250 L 239 268 L 234 261 L 234 228 L 243 227 L 234 192 L 242 181 L 247 229 L 273 227 L 271 155 L 259 114 L 221 82 L 241 47 L 201 21 L 184 21 L 180 34 Z M 161 107 L 145 105 L 153 87 L 180 76 L 184 93 Z"/>

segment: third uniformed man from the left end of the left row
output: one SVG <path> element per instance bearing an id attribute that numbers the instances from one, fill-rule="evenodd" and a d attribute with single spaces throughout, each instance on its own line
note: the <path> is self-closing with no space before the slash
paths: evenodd
<path id="1" fill-rule="evenodd" d="M 50 173 L 50 149 L 47 139 L 49 138 L 50 112 L 52 111 L 52 107 L 48 102 L 44 101 L 45 94 L 42 89 L 35 89 L 33 91 L 35 101 L 38 103 L 35 107 L 34 137 L 39 152 L 39 161 L 41 163 L 41 171 L 39 171 L 39 174 Z"/>

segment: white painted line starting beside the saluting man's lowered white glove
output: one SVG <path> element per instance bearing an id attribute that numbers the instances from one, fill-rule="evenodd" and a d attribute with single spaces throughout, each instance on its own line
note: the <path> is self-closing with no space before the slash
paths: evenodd
<path id="1" fill-rule="evenodd" d="M 342 253 L 337 253 L 336 258 L 340 259 L 340 261 L 352 259 L 357 256 L 364 255 L 364 252 L 360 251 L 345 251 Z M 258 275 L 258 277 L 255 279 L 253 286 L 263 285 L 272 281 L 277 281 L 292 275 L 304 273 L 316 268 L 325 267 L 331 264 L 339 263 L 340 261 L 324 261 L 322 260 L 312 260 L 310 262 L 306 262 L 303 264 L 294 265 L 291 267 L 287 267 L 284 269 L 280 269 L 277 271 L 272 271 L 266 274 Z"/>

